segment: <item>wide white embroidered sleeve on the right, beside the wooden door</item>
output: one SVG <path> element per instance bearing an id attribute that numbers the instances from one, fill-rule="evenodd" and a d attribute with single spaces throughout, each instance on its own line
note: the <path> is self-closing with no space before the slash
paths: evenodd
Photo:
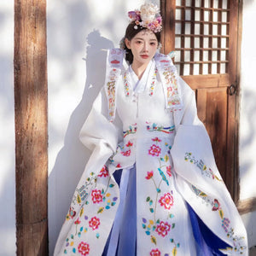
<path id="1" fill-rule="evenodd" d="M 218 172 L 205 126 L 197 117 L 195 93 L 182 79 L 183 110 L 174 113 L 177 134 L 172 159 L 177 188 L 212 232 L 229 247 L 227 255 L 247 255 L 247 232 Z"/>

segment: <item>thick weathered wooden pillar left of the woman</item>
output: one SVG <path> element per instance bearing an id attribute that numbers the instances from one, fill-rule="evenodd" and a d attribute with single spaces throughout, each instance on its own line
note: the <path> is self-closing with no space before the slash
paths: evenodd
<path id="1" fill-rule="evenodd" d="M 48 255 L 46 0 L 15 0 L 17 255 Z"/>

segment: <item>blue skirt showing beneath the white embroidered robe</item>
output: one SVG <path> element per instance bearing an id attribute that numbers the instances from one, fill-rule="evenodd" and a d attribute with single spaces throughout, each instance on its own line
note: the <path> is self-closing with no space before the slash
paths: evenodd
<path id="1" fill-rule="evenodd" d="M 102 256 L 137 256 L 136 166 L 113 173 L 120 189 L 120 205 Z M 224 256 L 219 248 L 229 245 L 207 228 L 187 203 L 195 238 L 195 256 Z M 126 227 L 122 229 L 121 227 Z M 127 227 L 129 227 L 127 229 Z"/>

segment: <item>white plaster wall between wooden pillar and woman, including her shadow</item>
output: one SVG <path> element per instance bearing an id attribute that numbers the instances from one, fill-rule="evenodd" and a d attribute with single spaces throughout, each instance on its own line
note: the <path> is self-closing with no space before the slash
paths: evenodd
<path id="1" fill-rule="evenodd" d="M 90 156 L 79 131 L 104 82 L 105 49 L 119 46 L 127 12 L 142 3 L 48 1 L 50 255 Z"/>

